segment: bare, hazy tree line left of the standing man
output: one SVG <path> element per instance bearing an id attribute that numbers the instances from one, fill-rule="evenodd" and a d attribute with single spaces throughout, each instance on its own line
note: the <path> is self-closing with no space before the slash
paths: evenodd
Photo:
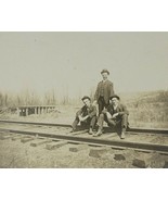
<path id="1" fill-rule="evenodd" d="M 90 91 L 89 96 L 93 98 L 93 91 Z M 81 96 L 75 98 L 67 93 L 57 95 L 55 90 L 46 91 L 39 95 L 28 89 L 20 92 L 2 92 L 0 91 L 0 108 L 17 108 L 21 105 L 55 105 L 55 104 L 80 104 Z"/>

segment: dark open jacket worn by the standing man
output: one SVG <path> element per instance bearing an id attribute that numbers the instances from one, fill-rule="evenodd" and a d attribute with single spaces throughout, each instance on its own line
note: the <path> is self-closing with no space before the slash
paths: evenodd
<path id="1" fill-rule="evenodd" d="M 94 100 L 99 100 L 101 97 L 101 90 L 104 85 L 104 101 L 106 104 L 109 102 L 109 98 L 114 95 L 114 88 L 113 88 L 113 83 L 109 81 L 108 79 L 103 84 L 103 80 L 98 84 L 96 91 L 94 95 Z"/>

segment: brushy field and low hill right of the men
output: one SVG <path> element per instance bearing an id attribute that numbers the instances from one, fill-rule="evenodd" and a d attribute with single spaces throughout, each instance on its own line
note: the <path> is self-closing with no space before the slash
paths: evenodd
<path id="1" fill-rule="evenodd" d="M 168 91 L 122 95 L 131 126 L 168 128 Z"/>

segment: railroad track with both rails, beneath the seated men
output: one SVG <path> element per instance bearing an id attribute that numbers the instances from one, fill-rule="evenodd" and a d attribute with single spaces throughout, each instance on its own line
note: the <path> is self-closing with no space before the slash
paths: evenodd
<path id="1" fill-rule="evenodd" d="M 119 139 L 116 133 L 105 128 L 106 133 L 101 137 L 93 138 L 87 130 L 78 130 L 70 134 L 70 125 L 49 124 L 34 122 L 17 122 L 0 120 L 1 139 L 20 138 L 23 142 L 42 145 L 53 142 L 56 145 L 77 143 L 96 147 L 111 147 L 114 149 L 133 149 L 145 152 L 159 152 L 168 154 L 168 129 L 129 128 L 126 139 Z M 41 140 L 36 143 L 36 140 Z M 54 147 L 53 145 L 53 147 Z"/>

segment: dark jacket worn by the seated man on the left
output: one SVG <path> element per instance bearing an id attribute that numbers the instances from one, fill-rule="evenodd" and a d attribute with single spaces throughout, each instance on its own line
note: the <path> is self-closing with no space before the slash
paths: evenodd
<path id="1" fill-rule="evenodd" d="M 96 115 L 96 108 L 94 105 L 90 105 L 90 108 L 88 108 L 87 105 L 83 105 L 76 114 L 76 116 L 81 115 L 82 117 L 89 115 L 89 117 L 93 117 Z"/>

